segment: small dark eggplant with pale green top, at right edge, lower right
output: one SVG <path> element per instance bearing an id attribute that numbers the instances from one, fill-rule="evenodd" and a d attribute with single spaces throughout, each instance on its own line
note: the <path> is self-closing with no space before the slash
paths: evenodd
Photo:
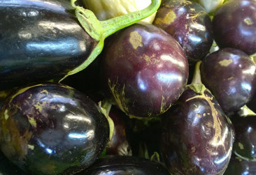
<path id="1" fill-rule="evenodd" d="M 230 119 L 236 132 L 234 153 L 243 160 L 256 161 L 256 114 L 244 106 Z"/>

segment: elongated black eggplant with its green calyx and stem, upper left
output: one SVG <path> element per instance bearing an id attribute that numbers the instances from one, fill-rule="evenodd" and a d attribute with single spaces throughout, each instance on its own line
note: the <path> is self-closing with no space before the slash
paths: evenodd
<path id="1" fill-rule="evenodd" d="M 160 0 L 106 21 L 75 3 L 0 0 L 0 89 L 78 73 L 101 52 L 106 37 L 155 13 Z"/>

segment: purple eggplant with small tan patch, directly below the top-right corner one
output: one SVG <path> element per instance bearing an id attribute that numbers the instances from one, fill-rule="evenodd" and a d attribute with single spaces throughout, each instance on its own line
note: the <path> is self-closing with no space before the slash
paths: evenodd
<path id="1" fill-rule="evenodd" d="M 253 97 L 256 66 L 240 50 L 225 48 L 206 56 L 201 63 L 201 79 L 224 112 L 233 112 Z"/>

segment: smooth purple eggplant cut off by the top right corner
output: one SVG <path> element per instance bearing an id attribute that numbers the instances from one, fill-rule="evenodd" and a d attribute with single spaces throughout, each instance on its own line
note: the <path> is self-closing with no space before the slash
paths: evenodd
<path id="1" fill-rule="evenodd" d="M 220 47 L 233 47 L 247 54 L 256 52 L 256 1 L 229 0 L 213 17 L 213 33 Z"/>

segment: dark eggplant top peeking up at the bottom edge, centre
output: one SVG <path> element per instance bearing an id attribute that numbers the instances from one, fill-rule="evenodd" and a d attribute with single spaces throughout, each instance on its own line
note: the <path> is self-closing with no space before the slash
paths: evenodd
<path id="1" fill-rule="evenodd" d="M 167 175 L 168 170 L 160 163 L 125 155 L 108 155 L 100 158 L 91 167 L 78 175 Z"/>

